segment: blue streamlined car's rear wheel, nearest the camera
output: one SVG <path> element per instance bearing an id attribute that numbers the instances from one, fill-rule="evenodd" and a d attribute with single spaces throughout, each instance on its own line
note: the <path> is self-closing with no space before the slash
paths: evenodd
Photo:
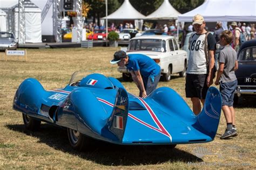
<path id="1" fill-rule="evenodd" d="M 88 148 L 89 138 L 84 136 L 82 133 L 68 128 L 69 143 L 73 149 L 82 151 Z"/>

